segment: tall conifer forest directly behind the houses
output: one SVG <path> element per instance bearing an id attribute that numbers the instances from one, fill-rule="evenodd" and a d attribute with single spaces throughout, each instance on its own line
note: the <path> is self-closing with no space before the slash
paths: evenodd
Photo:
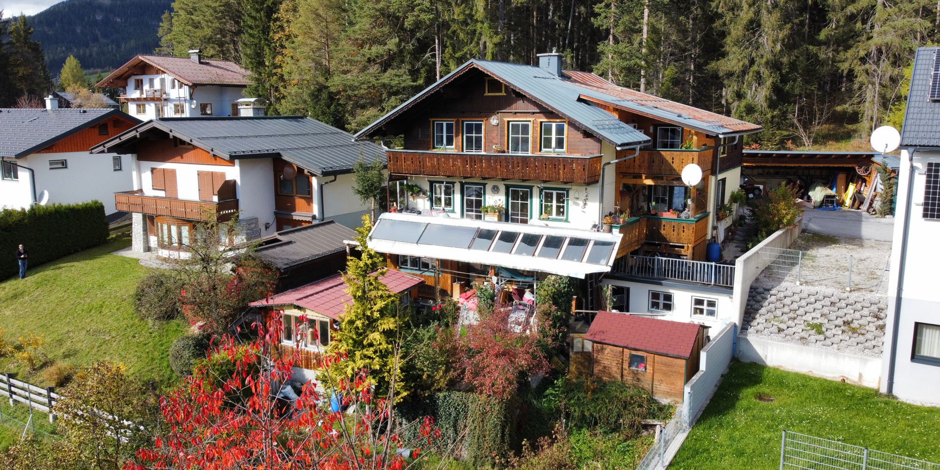
<path id="1" fill-rule="evenodd" d="M 926 0 L 177 0 L 163 51 L 239 61 L 274 113 L 357 130 L 478 57 L 573 69 L 757 122 L 765 148 L 864 136 L 902 109 Z M 83 61 L 84 62 L 84 61 Z M 896 113 L 897 114 L 897 113 Z"/>

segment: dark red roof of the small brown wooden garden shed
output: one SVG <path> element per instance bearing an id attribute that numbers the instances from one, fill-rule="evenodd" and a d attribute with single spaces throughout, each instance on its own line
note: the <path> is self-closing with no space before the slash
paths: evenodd
<path id="1" fill-rule="evenodd" d="M 656 320 L 625 313 L 597 312 L 585 339 L 636 351 L 688 358 L 696 344 L 697 323 Z"/>

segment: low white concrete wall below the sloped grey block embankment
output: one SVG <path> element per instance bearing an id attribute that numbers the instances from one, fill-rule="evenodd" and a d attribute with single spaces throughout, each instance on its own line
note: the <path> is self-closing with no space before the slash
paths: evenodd
<path id="1" fill-rule="evenodd" d="M 738 356 L 747 362 L 872 388 L 878 388 L 881 381 L 882 360 L 875 357 L 747 336 L 738 337 Z"/>

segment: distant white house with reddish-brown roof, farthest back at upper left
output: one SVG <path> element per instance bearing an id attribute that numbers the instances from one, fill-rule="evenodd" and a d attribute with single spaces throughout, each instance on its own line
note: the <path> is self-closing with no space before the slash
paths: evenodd
<path id="1" fill-rule="evenodd" d="M 249 74 L 235 62 L 204 59 L 194 50 L 189 58 L 137 55 L 97 86 L 124 88 L 120 101 L 141 120 L 227 117 L 239 116 Z"/>

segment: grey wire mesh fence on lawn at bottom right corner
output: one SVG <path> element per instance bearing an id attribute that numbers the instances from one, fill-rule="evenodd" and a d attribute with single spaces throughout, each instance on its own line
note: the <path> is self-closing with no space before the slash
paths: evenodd
<path id="1" fill-rule="evenodd" d="M 940 470 L 940 463 L 919 461 L 868 447 L 852 446 L 797 432 L 783 431 L 780 470 Z"/>

